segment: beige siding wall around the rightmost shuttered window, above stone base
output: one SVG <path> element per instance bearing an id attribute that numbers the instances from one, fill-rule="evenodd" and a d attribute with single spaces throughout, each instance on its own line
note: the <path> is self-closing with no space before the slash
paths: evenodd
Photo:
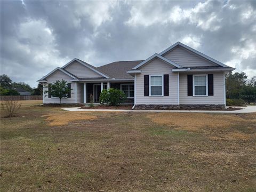
<path id="1" fill-rule="evenodd" d="M 198 73 L 207 74 L 207 73 Z M 180 105 L 186 104 L 224 104 L 223 101 L 223 73 L 213 74 L 213 96 L 193 97 L 188 96 L 187 74 L 180 74 Z M 193 87 L 194 89 L 194 87 Z"/>

